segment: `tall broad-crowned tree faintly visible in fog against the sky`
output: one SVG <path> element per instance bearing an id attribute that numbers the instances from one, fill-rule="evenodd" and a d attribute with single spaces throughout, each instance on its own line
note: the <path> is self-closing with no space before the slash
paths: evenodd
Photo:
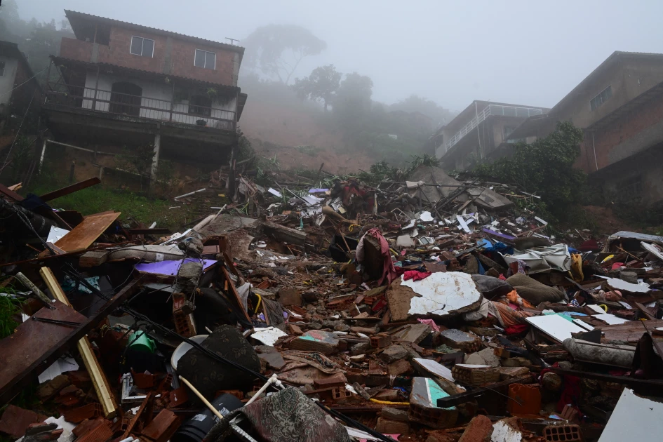
<path id="1" fill-rule="evenodd" d="M 246 65 L 288 84 L 304 57 L 318 55 L 327 43 L 295 25 L 261 26 L 243 40 Z"/>

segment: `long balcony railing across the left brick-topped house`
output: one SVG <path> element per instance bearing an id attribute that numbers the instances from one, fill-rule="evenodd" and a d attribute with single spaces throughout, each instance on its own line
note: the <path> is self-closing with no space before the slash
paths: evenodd
<path id="1" fill-rule="evenodd" d="M 131 119 L 156 120 L 223 130 L 235 130 L 236 126 L 235 112 L 227 109 L 61 83 L 49 83 L 48 86 L 46 104 L 51 107 L 87 109 Z"/>

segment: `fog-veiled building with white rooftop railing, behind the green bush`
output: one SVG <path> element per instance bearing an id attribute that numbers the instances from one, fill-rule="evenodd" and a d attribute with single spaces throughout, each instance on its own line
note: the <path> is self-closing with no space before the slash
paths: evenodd
<path id="1" fill-rule="evenodd" d="M 509 152 L 511 132 L 530 116 L 548 109 L 474 100 L 431 138 L 446 169 L 465 170 Z"/>

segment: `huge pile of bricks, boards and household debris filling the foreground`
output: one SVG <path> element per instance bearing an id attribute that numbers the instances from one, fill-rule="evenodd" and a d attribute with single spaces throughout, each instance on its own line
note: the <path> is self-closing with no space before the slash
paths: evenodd
<path id="1" fill-rule="evenodd" d="M 48 206 L 96 179 L 0 185 L 0 432 L 657 440 L 663 237 L 557 239 L 537 196 L 427 166 L 273 182 L 175 233 Z"/>

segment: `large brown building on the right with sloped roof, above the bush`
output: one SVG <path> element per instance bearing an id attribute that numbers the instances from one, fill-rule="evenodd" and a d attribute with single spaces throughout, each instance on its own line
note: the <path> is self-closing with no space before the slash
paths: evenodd
<path id="1" fill-rule="evenodd" d="M 558 121 L 584 130 L 576 167 L 607 202 L 663 204 L 663 54 L 612 53 L 545 116 L 511 133 L 531 142 Z"/>

